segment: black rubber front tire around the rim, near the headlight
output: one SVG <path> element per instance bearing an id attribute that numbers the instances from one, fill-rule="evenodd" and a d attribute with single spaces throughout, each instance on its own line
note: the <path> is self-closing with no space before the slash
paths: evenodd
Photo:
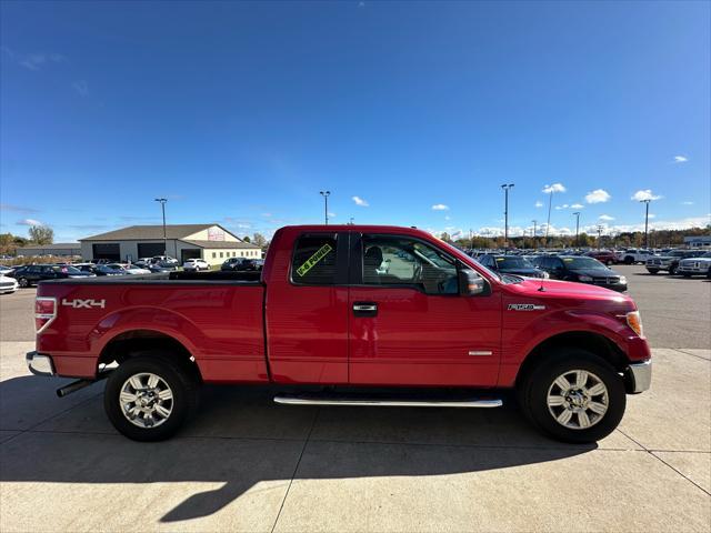
<path id="1" fill-rule="evenodd" d="M 574 370 L 593 374 L 607 389 L 607 411 L 587 429 L 562 425 L 548 406 L 549 390 L 555 386 L 554 381 L 558 376 Z M 604 359 L 577 348 L 551 351 L 550 355 L 528 374 L 518 392 L 521 409 L 534 426 L 553 439 L 571 443 L 591 443 L 608 436 L 622 420 L 627 405 L 624 383 L 614 368 Z M 552 409 L 560 409 L 561 412 L 563 410 L 562 406 Z M 577 415 L 575 421 L 580 422 Z"/>

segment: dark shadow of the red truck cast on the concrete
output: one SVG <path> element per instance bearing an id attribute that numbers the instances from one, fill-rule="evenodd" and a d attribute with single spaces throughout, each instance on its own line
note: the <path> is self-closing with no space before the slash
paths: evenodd
<path id="1" fill-rule="evenodd" d="M 0 423 L 10 435 L 0 444 L 0 481 L 126 484 L 119 502 L 127 505 L 140 484 L 221 483 L 199 492 L 186 484 L 176 501 L 152 500 L 166 505 L 160 521 L 169 523 L 209 516 L 247 492 L 286 494 L 293 479 L 472 473 L 597 447 L 550 441 L 511 406 L 298 408 L 273 404 L 270 390 L 227 386 L 204 388 L 198 416 L 178 436 L 138 443 L 107 421 L 101 383 L 60 400 L 61 384 L 34 376 L 0 382 Z"/>

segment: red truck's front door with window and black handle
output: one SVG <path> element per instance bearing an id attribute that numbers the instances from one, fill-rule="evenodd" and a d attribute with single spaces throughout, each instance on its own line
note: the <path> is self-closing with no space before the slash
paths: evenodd
<path id="1" fill-rule="evenodd" d="M 410 237 L 354 235 L 352 384 L 493 386 L 500 294 L 462 296 L 458 261 Z"/>

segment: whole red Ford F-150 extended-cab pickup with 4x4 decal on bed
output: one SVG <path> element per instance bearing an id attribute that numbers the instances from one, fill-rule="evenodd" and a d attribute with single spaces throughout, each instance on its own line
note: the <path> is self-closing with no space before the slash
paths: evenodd
<path id="1" fill-rule="evenodd" d="M 130 439 L 167 439 L 202 383 L 271 384 L 280 404 L 494 408 L 514 390 L 568 442 L 618 425 L 650 386 L 650 349 L 627 295 L 499 275 L 424 231 L 279 230 L 263 271 L 41 282 L 41 375 L 107 379 Z"/>

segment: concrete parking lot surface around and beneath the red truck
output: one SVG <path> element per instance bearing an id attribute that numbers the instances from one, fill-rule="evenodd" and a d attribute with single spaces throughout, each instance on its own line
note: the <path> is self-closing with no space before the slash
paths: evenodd
<path id="1" fill-rule="evenodd" d="M 0 296 L 1 531 L 710 531 L 711 283 L 620 266 L 654 351 L 597 445 L 500 410 L 290 408 L 206 388 L 176 439 L 118 435 L 101 384 L 29 375 L 33 290 Z"/>

